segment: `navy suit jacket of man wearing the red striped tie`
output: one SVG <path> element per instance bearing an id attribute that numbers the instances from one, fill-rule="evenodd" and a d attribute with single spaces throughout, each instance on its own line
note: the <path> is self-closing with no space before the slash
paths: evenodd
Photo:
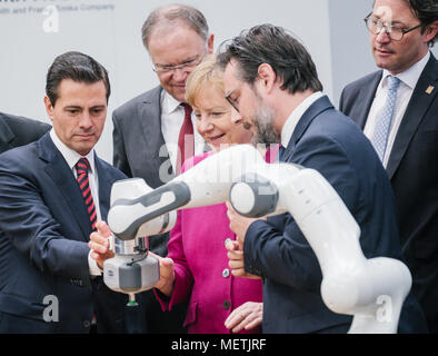
<path id="1" fill-rule="evenodd" d="M 125 175 L 96 156 L 102 219 Z M 94 198 L 96 199 L 96 198 Z M 91 225 L 74 176 L 46 134 L 0 155 L 0 333 L 121 333 L 127 297 L 90 278 Z M 59 322 L 43 320 L 58 298 Z"/>

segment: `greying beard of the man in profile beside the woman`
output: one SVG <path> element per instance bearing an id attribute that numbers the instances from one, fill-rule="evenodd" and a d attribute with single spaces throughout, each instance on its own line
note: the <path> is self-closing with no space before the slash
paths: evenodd
<path id="1" fill-rule="evenodd" d="M 281 137 L 273 127 L 275 112 L 273 110 L 259 101 L 257 113 L 253 117 L 252 123 L 256 132 L 251 138 L 252 145 L 272 145 L 281 141 Z"/>

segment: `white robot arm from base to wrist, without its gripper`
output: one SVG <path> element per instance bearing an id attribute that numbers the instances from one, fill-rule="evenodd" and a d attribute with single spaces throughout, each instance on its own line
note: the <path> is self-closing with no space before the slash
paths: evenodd
<path id="1" fill-rule="evenodd" d="M 170 229 L 175 220 L 162 218 L 169 211 L 226 200 L 248 217 L 283 212 L 293 217 L 320 264 L 325 304 L 335 313 L 354 316 L 349 333 L 397 332 L 411 286 L 408 268 L 396 259 L 364 256 L 359 226 L 336 190 L 313 169 L 268 165 L 251 146 L 235 146 L 153 191 L 116 199 L 108 222 L 116 236 L 130 240 L 139 231 L 158 234 L 165 220 Z"/>

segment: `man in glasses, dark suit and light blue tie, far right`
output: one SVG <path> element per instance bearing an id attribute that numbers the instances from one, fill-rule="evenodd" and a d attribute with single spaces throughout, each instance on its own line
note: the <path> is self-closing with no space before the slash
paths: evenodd
<path id="1" fill-rule="evenodd" d="M 340 110 L 381 152 L 412 291 L 429 330 L 438 333 L 438 61 L 429 51 L 438 33 L 438 3 L 378 0 L 366 23 L 381 70 L 348 85 Z M 398 82 L 394 106 L 391 78 Z M 381 122 L 387 123 L 385 135 Z"/>

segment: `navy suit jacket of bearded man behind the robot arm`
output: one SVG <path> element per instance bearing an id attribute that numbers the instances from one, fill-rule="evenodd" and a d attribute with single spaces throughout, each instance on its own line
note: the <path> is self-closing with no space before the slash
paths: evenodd
<path id="1" fill-rule="evenodd" d="M 360 129 L 334 109 L 327 97 L 300 118 L 282 160 L 318 170 L 336 189 L 361 229 L 367 258 L 401 258 L 394 196 L 372 146 Z M 256 221 L 245 239 L 245 265 L 263 283 L 263 333 L 342 333 L 351 317 L 329 310 L 320 295 L 321 269 L 288 214 Z M 406 332 L 424 330 L 418 305 L 409 307 Z M 414 300 L 415 301 L 415 300 Z"/>

